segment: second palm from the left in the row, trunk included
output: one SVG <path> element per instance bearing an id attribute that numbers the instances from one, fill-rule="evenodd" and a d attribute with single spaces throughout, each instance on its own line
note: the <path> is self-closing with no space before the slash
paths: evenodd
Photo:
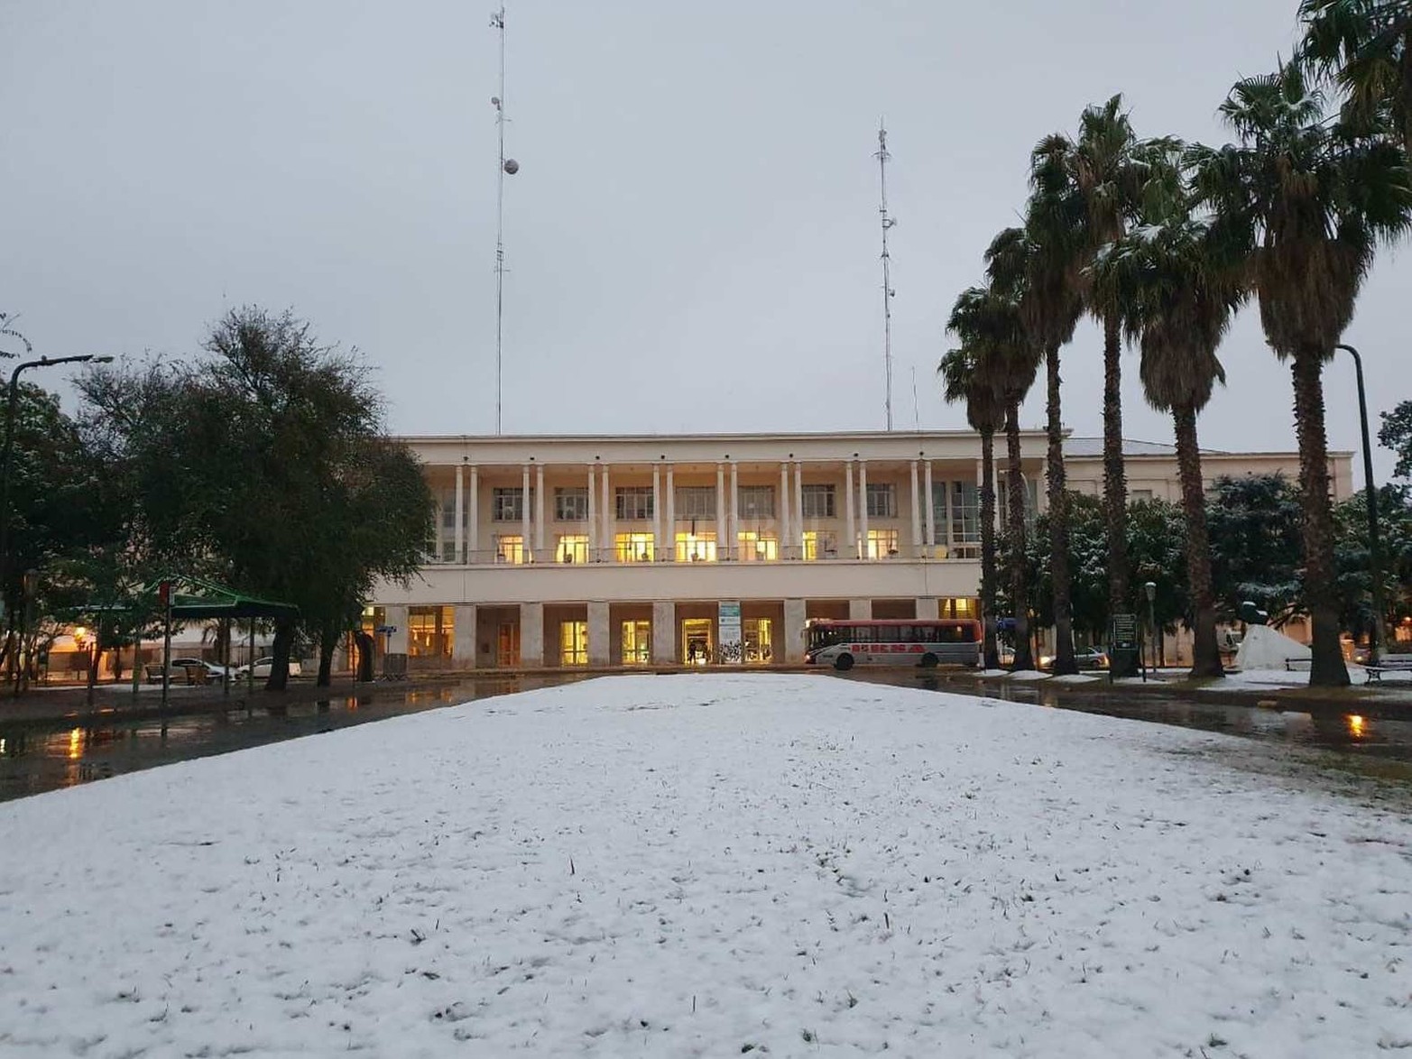
<path id="1" fill-rule="evenodd" d="M 1001 232 L 986 251 L 987 261 L 1018 233 L 1018 229 Z M 1022 233 L 1021 233 L 1022 236 Z M 973 287 L 956 299 L 947 328 L 957 335 L 977 336 L 984 349 L 986 374 L 1000 394 L 1005 424 L 1005 469 L 1008 480 L 1008 518 L 1005 527 L 1005 551 L 1008 558 L 1010 604 L 1015 623 L 1015 669 L 1034 669 L 1035 657 L 1029 644 L 1029 590 L 1025 580 L 1025 493 L 1019 452 L 1019 405 L 1035 384 L 1039 360 L 1019 321 L 1019 306 L 1014 287 L 990 282 L 987 287 Z M 987 474 L 984 489 L 994 489 Z M 984 503 L 984 493 L 983 493 Z M 994 514 L 983 521 L 993 524 Z M 984 532 L 984 530 L 981 531 Z M 981 538 L 984 552 L 984 537 Z M 983 555 L 984 561 L 984 555 Z M 998 585 L 998 576 L 997 582 Z"/>

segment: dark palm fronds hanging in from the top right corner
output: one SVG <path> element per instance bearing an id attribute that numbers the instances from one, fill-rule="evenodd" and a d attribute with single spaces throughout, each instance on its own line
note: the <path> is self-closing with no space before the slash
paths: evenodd
<path id="1" fill-rule="evenodd" d="M 1408 0 L 1302 0 L 1300 61 L 1332 76 L 1351 116 L 1385 116 L 1412 150 L 1412 4 Z"/>

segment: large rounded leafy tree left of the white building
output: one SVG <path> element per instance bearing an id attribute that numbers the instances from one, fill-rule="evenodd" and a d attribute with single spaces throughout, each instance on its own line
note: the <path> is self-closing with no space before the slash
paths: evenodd
<path id="1" fill-rule="evenodd" d="M 298 606 L 326 682 L 337 634 L 373 582 L 418 569 L 431 493 L 415 457 L 384 439 L 363 366 L 319 345 L 308 323 L 234 309 L 205 350 L 189 366 L 85 380 L 140 497 L 134 539 L 148 568 Z M 292 620 L 274 626 L 271 690 L 287 683 L 298 631 Z"/>

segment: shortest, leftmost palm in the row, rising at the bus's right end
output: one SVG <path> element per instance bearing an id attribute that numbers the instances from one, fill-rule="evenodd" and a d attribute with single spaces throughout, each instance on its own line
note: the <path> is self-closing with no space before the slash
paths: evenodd
<path id="1" fill-rule="evenodd" d="M 974 289 L 974 288 L 973 288 Z M 980 611 L 984 623 L 984 661 L 987 669 L 1000 668 L 995 648 L 995 431 L 1005 422 L 1005 402 L 990 374 L 986 357 L 987 335 L 969 312 L 971 291 L 956 299 L 947 330 L 960 340 L 942 357 L 936 371 L 942 377 L 942 397 L 947 404 L 966 404 L 966 421 L 980 433 Z M 984 297 L 984 295 L 983 295 Z"/>

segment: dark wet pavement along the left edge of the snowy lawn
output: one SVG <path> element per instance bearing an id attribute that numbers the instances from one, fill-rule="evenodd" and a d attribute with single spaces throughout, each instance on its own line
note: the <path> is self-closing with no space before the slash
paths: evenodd
<path id="1" fill-rule="evenodd" d="M 546 688 L 578 676 L 476 679 L 292 700 L 285 706 L 161 719 L 114 719 L 56 730 L 52 722 L 0 723 L 0 801 L 73 786 L 174 761 L 400 717 L 473 699 Z"/>

